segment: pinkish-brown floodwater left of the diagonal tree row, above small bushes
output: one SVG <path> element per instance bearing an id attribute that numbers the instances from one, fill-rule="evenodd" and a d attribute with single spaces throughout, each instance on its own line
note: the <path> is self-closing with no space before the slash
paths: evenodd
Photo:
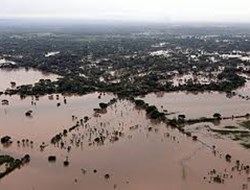
<path id="1" fill-rule="evenodd" d="M 98 94 L 94 93 L 65 97 L 67 104 L 64 104 L 64 97 L 61 95 L 58 100 L 56 95 L 53 95 L 53 100 L 49 96 L 42 96 L 39 100 L 32 97 L 20 99 L 19 96 L 1 96 L 1 100 L 9 101 L 8 106 L 0 107 L 1 133 L 9 134 L 19 140 L 32 137 L 36 140 L 48 141 L 55 133 L 73 125 L 72 115 L 84 117 L 92 114 L 94 106 L 98 107 L 101 101 L 108 102 L 113 97 L 107 94 L 102 100 L 96 100 L 97 96 Z M 58 103 L 61 106 L 58 107 Z M 32 111 L 31 117 L 25 116 L 29 110 Z"/>

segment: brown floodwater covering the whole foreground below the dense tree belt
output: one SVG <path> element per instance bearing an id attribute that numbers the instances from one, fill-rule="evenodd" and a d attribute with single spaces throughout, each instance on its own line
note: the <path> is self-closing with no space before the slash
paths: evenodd
<path id="1" fill-rule="evenodd" d="M 58 98 L 53 95 L 38 100 L 0 96 L 0 100 L 9 100 L 8 106 L 0 105 L 0 136 L 10 135 L 13 140 L 9 147 L 0 145 L 0 154 L 16 158 L 26 153 L 31 156 L 29 164 L 0 180 L 0 189 L 240 190 L 243 184 L 248 184 L 249 174 L 232 171 L 238 159 L 250 164 L 250 152 L 237 142 L 207 133 L 202 128 L 204 124 L 192 126 L 201 128 L 194 132 L 198 141 L 193 141 L 164 123 L 152 122 L 143 110 L 126 100 L 118 100 L 106 113 L 94 114 L 93 109 L 100 102 L 107 103 L 115 97 L 103 94 L 99 99 L 98 96 L 99 93 L 58 95 Z M 218 93 L 171 93 L 161 97 L 151 94 L 144 99 L 159 108 L 163 105 L 169 112 L 184 113 L 187 118 L 249 111 L 246 100 L 229 99 Z M 28 110 L 33 111 L 32 117 L 25 116 Z M 90 120 L 63 136 L 63 145 L 50 143 L 53 136 L 85 116 Z M 189 130 L 193 132 L 192 127 Z M 95 141 L 100 135 L 106 137 L 103 143 Z M 22 139 L 34 144 L 18 145 L 17 141 Z M 48 146 L 41 151 L 43 142 Z M 225 161 L 227 153 L 232 155 L 231 163 Z M 49 155 L 55 155 L 56 162 L 48 162 Z M 64 166 L 67 157 L 69 165 Z M 223 184 L 210 179 L 214 175 L 208 173 L 213 169 L 216 175 L 225 175 Z M 104 177 L 106 174 L 108 179 Z"/>

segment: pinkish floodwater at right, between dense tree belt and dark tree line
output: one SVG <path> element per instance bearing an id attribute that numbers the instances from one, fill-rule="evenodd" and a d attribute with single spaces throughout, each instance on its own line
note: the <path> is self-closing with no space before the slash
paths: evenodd
<path id="1" fill-rule="evenodd" d="M 145 96 L 146 103 L 156 105 L 158 109 L 166 109 L 169 113 L 176 113 L 170 117 L 185 114 L 187 118 L 212 117 L 214 113 L 222 116 L 245 115 L 250 112 L 250 101 L 238 96 L 227 98 L 225 93 L 156 93 Z M 163 106 L 163 108 L 161 108 Z"/>

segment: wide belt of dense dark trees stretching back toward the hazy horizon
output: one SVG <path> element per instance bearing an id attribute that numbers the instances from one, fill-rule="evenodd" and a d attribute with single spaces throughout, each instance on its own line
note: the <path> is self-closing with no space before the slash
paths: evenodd
<path id="1" fill-rule="evenodd" d="M 250 50 L 246 43 L 249 35 L 239 37 L 237 30 L 228 34 L 216 28 L 209 32 L 197 32 L 196 28 L 169 30 L 159 33 L 154 28 L 150 36 L 134 34 L 132 29 L 132 33 L 127 30 L 118 34 L 98 30 L 98 35 L 97 31 L 57 31 L 51 35 L 21 32 L 18 37 L 0 34 L 0 59 L 8 60 L 0 68 L 36 68 L 61 76 L 58 81 L 43 79 L 17 87 L 12 81 L 13 88 L 5 93 L 81 95 L 100 91 L 129 97 L 159 91 L 231 93 L 245 84 L 241 74 L 250 73 L 250 63 L 240 56 Z M 218 36 L 210 35 L 214 33 Z M 236 49 L 239 52 L 233 52 Z M 225 56 L 232 54 L 239 57 Z M 191 77 L 185 78 L 188 75 Z"/>

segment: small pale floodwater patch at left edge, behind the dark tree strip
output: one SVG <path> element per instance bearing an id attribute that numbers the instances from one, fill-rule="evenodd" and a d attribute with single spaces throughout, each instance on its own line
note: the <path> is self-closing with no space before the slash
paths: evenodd
<path id="1" fill-rule="evenodd" d="M 44 73 L 35 69 L 0 69 L 0 91 L 4 91 L 11 87 L 11 82 L 15 82 L 17 86 L 23 84 L 34 84 L 40 79 L 57 80 L 59 76 L 51 73 Z"/>

